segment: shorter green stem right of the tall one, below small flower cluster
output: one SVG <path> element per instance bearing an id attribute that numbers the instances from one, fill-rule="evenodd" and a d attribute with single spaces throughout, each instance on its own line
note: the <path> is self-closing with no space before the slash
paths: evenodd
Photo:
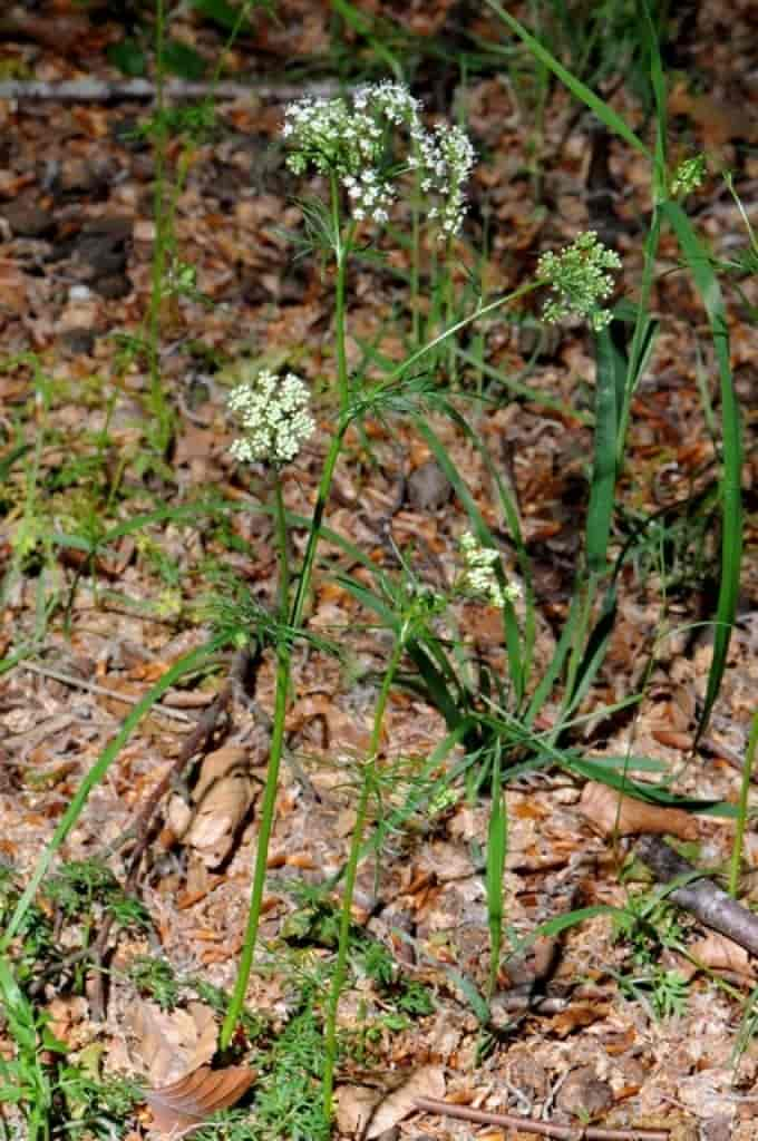
<path id="1" fill-rule="evenodd" d="M 397 672 L 397 666 L 400 665 L 401 657 L 403 656 L 403 649 L 405 646 L 405 624 L 401 628 L 401 633 L 393 648 L 392 657 L 385 671 L 385 677 L 381 682 L 381 689 L 379 691 L 379 697 L 377 699 L 377 707 L 373 713 L 373 728 L 371 731 L 371 741 L 369 743 L 369 753 L 363 768 L 363 782 L 361 784 L 361 796 L 358 800 L 358 806 L 355 814 L 355 826 L 353 828 L 353 837 L 350 840 L 350 851 L 347 858 L 347 865 L 345 868 L 345 891 L 342 893 L 342 908 L 339 921 L 339 944 L 337 948 L 337 963 L 334 965 L 334 974 L 332 977 L 331 990 L 329 993 L 329 1000 L 326 1003 L 326 1023 L 324 1034 L 324 1070 L 323 1070 L 323 1104 L 324 1104 L 324 1118 L 326 1122 L 331 1122 L 332 1111 L 332 1094 L 334 1089 L 334 1065 L 337 1061 L 337 1008 L 339 1005 L 339 998 L 345 986 L 345 977 L 347 973 L 347 953 L 349 949 L 350 941 L 350 917 L 353 911 L 353 896 L 355 893 L 355 880 L 357 876 L 358 861 L 361 857 L 361 849 L 363 847 L 363 832 L 365 828 L 366 815 L 369 809 L 369 799 L 371 795 L 371 790 L 374 787 L 374 774 L 377 768 L 377 754 L 379 751 L 379 741 L 381 737 L 381 727 L 384 723 L 385 711 L 387 709 L 387 701 L 389 698 L 389 690 L 392 689 L 393 681 L 395 680 L 395 673 Z"/>

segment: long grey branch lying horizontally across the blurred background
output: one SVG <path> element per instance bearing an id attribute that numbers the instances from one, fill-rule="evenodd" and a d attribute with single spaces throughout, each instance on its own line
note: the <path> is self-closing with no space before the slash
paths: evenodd
<path id="1" fill-rule="evenodd" d="M 221 80 L 218 83 L 175 79 L 163 84 L 166 99 L 265 99 L 289 103 L 304 96 L 337 94 L 333 82 L 250 83 Z M 18 103 L 126 103 L 155 99 L 158 84 L 150 79 L 104 80 L 74 79 L 51 83 L 42 80 L 6 80 L 0 82 L 0 99 Z"/>

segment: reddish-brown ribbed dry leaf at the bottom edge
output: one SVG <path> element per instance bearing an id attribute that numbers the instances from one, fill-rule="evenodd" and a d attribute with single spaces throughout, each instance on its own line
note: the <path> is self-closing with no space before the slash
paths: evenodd
<path id="1" fill-rule="evenodd" d="M 244 1066 L 220 1070 L 201 1066 L 172 1085 L 150 1090 L 145 1100 L 153 1112 L 151 1128 L 164 1138 L 186 1136 L 217 1109 L 235 1104 L 255 1077 Z"/>

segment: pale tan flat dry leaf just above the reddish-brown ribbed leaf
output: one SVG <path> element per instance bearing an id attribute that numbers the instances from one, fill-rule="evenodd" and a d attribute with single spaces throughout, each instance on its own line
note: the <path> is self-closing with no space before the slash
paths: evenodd
<path id="1" fill-rule="evenodd" d="M 138 1001 L 130 1012 L 131 1053 L 152 1085 L 176 1082 L 209 1062 L 216 1052 L 213 1011 L 192 1002 L 187 1010 L 161 1010 Z"/>

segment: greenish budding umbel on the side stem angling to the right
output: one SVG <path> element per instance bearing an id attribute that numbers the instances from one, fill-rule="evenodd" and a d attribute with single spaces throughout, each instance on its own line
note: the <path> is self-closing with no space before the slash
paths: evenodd
<path id="1" fill-rule="evenodd" d="M 592 329 L 605 329 L 611 322 L 611 313 L 602 302 L 613 292 L 608 269 L 621 269 L 621 259 L 598 242 L 591 229 L 580 234 L 559 253 L 543 253 L 537 273 L 555 294 L 542 310 L 545 319 L 556 324 L 573 313 L 587 317 Z"/>

